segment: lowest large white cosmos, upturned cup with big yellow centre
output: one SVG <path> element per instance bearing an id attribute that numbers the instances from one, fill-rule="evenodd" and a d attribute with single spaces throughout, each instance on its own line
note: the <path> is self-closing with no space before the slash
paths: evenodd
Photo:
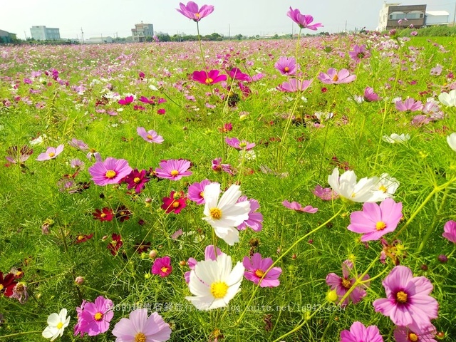
<path id="1" fill-rule="evenodd" d="M 209 186 L 209 185 L 208 185 Z M 220 254 L 216 260 L 198 261 L 190 271 L 188 287 L 193 296 L 191 301 L 199 310 L 222 308 L 240 291 L 245 268 L 238 261 L 232 269 L 232 259 L 227 254 Z"/>

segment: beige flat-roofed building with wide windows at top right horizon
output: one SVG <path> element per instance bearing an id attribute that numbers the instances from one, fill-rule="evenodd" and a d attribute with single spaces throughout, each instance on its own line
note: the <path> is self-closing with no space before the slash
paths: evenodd
<path id="1" fill-rule="evenodd" d="M 414 28 L 425 26 L 426 5 L 383 4 L 378 19 L 378 31 L 392 28 L 407 27 L 413 24 Z M 399 23 L 399 20 L 401 22 Z"/>

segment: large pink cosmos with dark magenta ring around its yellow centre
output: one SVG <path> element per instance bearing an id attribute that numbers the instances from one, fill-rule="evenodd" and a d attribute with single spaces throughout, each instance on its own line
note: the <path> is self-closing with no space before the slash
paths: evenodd
<path id="1" fill-rule="evenodd" d="M 433 286 L 425 276 L 413 276 L 406 266 L 395 266 L 383 279 L 387 298 L 373 302 L 375 311 L 389 316 L 396 326 L 424 330 L 437 318 L 439 304 L 429 294 Z"/>

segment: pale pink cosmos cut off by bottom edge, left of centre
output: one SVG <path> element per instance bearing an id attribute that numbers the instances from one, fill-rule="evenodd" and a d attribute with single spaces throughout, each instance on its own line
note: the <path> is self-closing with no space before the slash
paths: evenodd
<path id="1" fill-rule="evenodd" d="M 164 342 L 171 337 L 171 328 L 162 316 L 147 309 L 136 309 L 128 318 L 121 318 L 113 328 L 115 342 Z"/>

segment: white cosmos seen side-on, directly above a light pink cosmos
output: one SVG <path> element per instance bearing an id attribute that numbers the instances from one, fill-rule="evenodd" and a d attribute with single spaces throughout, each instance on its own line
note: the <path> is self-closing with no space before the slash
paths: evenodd
<path id="1" fill-rule="evenodd" d="M 382 190 L 375 188 L 378 183 L 377 177 L 364 177 L 356 182 L 354 171 L 346 171 L 339 177 L 337 167 L 333 170 L 332 175 L 328 176 L 328 183 L 338 195 L 352 202 L 381 202 L 389 197 Z"/>

